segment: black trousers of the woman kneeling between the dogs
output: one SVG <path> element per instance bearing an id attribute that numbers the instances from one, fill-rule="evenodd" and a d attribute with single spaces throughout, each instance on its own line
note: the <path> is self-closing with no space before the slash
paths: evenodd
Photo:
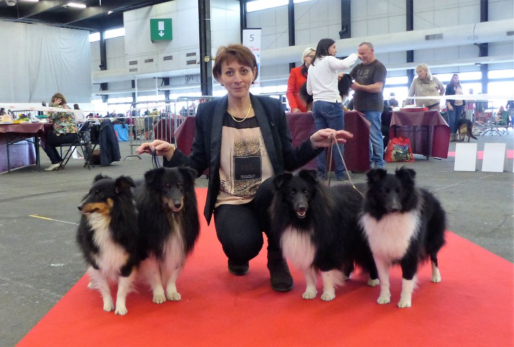
<path id="1" fill-rule="evenodd" d="M 276 256 L 281 252 L 278 238 L 269 232 L 271 189 L 272 181 L 267 179 L 251 202 L 224 204 L 214 209 L 216 235 L 227 257 L 235 263 L 245 263 L 259 254 L 264 244 L 263 232 L 268 238 L 268 254 Z"/>

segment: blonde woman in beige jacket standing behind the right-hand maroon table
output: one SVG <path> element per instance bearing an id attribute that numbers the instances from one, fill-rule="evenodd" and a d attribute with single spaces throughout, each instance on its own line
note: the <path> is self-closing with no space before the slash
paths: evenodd
<path id="1" fill-rule="evenodd" d="M 409 97 L 430 97 L 439 96 L 445 94 L 445 86 L 437 77 L 430 74 L 430 69 L 425 64 L 419 64 L 416 66 L 416 74 L 418 75 L 412 80 L 409 88 Z M 412 99 L 407 99 L 408 102 L 412 102 Z M 416 106 L 428 107 L 428 109 L 435 109 L 439 111 L 440 99 L 416 99 Z"/>

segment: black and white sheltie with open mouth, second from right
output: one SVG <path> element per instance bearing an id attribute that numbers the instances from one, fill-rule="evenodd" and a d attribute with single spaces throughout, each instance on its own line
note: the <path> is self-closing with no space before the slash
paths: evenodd
<path id="1" fill-rule="evenodd" d="M 370 272 L 370 286 L 378 285 L 373 256 L 359 226 L 359 192 L 349 185 L 326 187 L 313 170 L 276 175 L 273 184 L 271 232 L 280 237 L 284 257 L 305 275 L 304 299 L 316 298 L 321 271 L 321 300 L 333 300 L 335 286 L 350 276 L 354 262 Z"/>

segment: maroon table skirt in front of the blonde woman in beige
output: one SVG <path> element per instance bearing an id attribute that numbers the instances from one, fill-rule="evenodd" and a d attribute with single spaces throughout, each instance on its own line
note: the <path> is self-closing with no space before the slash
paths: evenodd
<path id="1" fill-rule="evenodd" d="M 389 136 L 408 137 L 412 153 L 448 157 L 450 127 L 437 111 L 394 111 Z"/>

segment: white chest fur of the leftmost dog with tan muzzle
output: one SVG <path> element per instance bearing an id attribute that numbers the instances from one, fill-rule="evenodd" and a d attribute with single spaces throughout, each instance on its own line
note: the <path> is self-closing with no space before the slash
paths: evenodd
<path id="1" fill-rule="evenodd" d="M 100 249 L 95 255 L 95 262 L 107 278 L 117 278 L 120 268 L 128 259 L 127 251 L 113 241 L 111 228 L 111 217 L 101 213 L 91 213 L 87 216 L 87 222 L 93 228 L 93 242 Z"/>

